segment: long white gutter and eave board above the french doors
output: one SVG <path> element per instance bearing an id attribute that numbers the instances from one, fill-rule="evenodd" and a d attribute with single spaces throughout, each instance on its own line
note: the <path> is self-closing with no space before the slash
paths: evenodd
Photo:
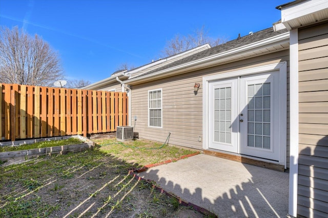
<path id="1" fill-rule="evenodd" d="M 134 79 L 129 79 L 126 81 L 127 84 L 135 84 L 138 83 L 139 81 L 142 81 L 144 79 L 148 79 L 151 77 L 158 77 L 160 75 L 163 74 L 168 74 L 170 72 L 174 72 L 174 73 L 180 73 L 180 71 L 186 72 L 186 71 L 190 71 L 190 70 L 196 70 L 198 68 L 203 68 L 203 67 L 209 67 L 211 66 L 215 61 L 219 61 L 220 59 L 223 58 L 227 58 L 227 57 L 231 57 L 231 56 L 235 56 L 235 55 L 240 55 L 242 53 L 246 53 L 246 52 L 250 52 L 250 51 L 254 51 L 254 50 L 258 50 L 259 48 L 263 48 L 263 47 L 267 47 L 267 46 L 272 46 L 274 44 L 278 44 L 280 42 L 286 42 L 289 41 L 289 32 L 277 35 L 277 36 L 273 36 L 271 38 L 267 38 L 267 39 L 263 39 L 261 41 L 257 41 L 254 43 L 251 43 L 249 45 L 246 46 L 241 46 L 238 47 L 236 49 L 232 49 L 226 52 L 222 52 L 219 54 L 215 54 L 206 58 L 202 58 L 199 60 L 195 60 L 195 61 L 191 61 L 185 64 L 181 64 L 179 66 L 170 68 L 170 69 L 165 69 L 153 74 L 148 74 L 145 76 L 140 76 Z"/>

